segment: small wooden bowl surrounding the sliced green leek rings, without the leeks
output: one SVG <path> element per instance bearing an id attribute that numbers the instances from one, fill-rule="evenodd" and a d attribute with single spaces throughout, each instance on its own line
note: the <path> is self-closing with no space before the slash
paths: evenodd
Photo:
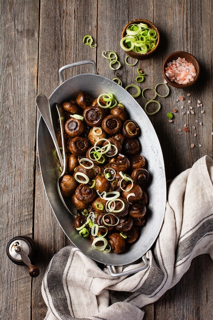
<path id="1" fill-rule="evenodd" d="M 148 20 L 145 20 L 145 19 L 132 20 L 132 21 L 128 22 L 128 24 L 124 27 L 121 37 L 123 38 L 123 37 L 126 36 L 126 29 L 127 29 L 127 27 L 129 25 L 131 25 L 131 24 L 139 24 L 140 22 L 142 22 L 143 24 L 147 24 L 148 27 L 154 29 L 157 32 L 157 42 L 156 42 L 155 48 L 153 50 L 149 51 L 148 53 L 145 53 L 145 54 L 140 54 L 140 53 L 136 53 L 136 52 L 133 52 L 133 51 L 125 51 L 125 50 L 124 50 L 124 52 L 128 56 L 130 56 L 132 58 L 135 58 L 135 59 L 146 59 L 146 58 L 149 58 L 157 50 L 157 47 L 158 47 L 159 41 L 160 41 L 159 31 L 158 31 L 157 27 L 155 25 L 153 25 L 152 22 L 150 22 Z"/>

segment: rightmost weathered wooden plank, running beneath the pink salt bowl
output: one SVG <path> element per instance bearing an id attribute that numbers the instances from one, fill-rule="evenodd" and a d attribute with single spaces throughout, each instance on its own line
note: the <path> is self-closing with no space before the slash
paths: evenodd
<path id="1" fill-rule="evenodd" d="M 159 2 L 156 2 L 155 12 L 156 23 L 163 35 L 162 58 L 173 51 L 187 51 L 195 55 L 201 64 L 201 76 L 195 87 L 187 90 L 172 88 L 170 98 L 163 104 L 164 118 L 160 116 L 154 121 L 164 153 L 167 176 L 173 178 L 179 172 L 191 167 L 203 155 L 207 154 L 212 157 L 212 82 L 210 77 L 212 43 L 210 50 L 205 47 L 205 43 L 209 45 L 211 37 L 208 27 L 211 4 L 206 1 L 199 6 L 195 2 L 185 1 L 173 6 L 172 2 L 165 2 L 163 11 L 160 10 L 160 5 Z M 168 19 L 168 24 L 163 21 L 165 12 L 169 12 L 173 17 L 172 20 Z M 199 24 L 197 24 L 198 20 Z M 207 70 L 207 75 L 204 76 Z M 160 73 L 160 66 L 156 73 Z M 187 93 L 191 93 L 191 96 L 187 97 Z M 184 102 L 175 102 L 175 99 L 180 96 L 184 97 Z M 197 107 L 198 99 L 203 104 L 202 108 Z M 192 103 L 188 104 L 188 100 Z M 180 109 L 181 105 L 184 106 L 183 109 Z M 191 110 L 189 105 L 193 106 L 194 114 L 187 113 L 187 110 Z M 175 115 L 174 123 L 169 124 L 165 122 L 165 115 L 168 111 L 172 112 L 174 107 L 178 108 L 178 113 Z M 201 109 L 205 113 L 201 114 Z M 186 113 L 182 115 L 184 110 Z M 184 124 L 187 124 L 190 132 L 182 131 L 179 134 L 178 128 L 182 129 Z M 197 136 L 194 136 L 195 133 Z M 195 147 L 191 149 L 192 143 L 195 144 Z M 201 270 L 204 271 L 202 276 Z M 212 289 L 206 288 L 206 282 L 211 275 L 212 263 L 209 257 L 196 258 L 181 281 L 155 303 L 155 319 L 210 319 L 212 306 L 209 305 L 209 299 L 212 299 Z"/>

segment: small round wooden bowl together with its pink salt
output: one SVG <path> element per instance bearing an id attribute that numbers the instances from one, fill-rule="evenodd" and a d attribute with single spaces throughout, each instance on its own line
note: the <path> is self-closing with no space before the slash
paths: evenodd
<path id="1" fill-rule="evenodd" d="M 200 73 L 198 60 L 190 53 L 177 51 L 163 62 L 164 79 L 176 88 L 185 88 L 196 82 Z"/>

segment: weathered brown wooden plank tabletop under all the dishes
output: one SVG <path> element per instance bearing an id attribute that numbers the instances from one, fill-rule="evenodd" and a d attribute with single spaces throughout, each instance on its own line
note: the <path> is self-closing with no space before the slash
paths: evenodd
<path id="1" fill-rule="evenodd" d="M 201 156 L 212 157 L 213 4 L 210 0 L 2 0 L 0 8 L 0 318 L 38 320 L 46 312 L 41 296 L 45 269 L 69 241 L 51 211 L 42 185 L 36 150 L 36 95 L 50 96 L 59 85 L 59 68 L 85 59 L 97 62 L 100 75 L 109 79 L 120 77 L 124 86 L 135 83 L 136 68 L 140 67 L 146 73 L 141 88 L 153 87 L 163 81 L 162 62 L 168 54 L 192 53 L 201 65 L 197 84 L 188 90 L 170 87 L 169 97 L 160 99 L 160 112 L 150 117 L 161 143 L 167 178 L 174 178 Z M 126 55 L 120 47 L 120 37 L 125 24 L 135 18 L 154 22 L 161 40 L 154 56 L 130 67 L 124 62 Z M 87 34 L 94 38 L 96 49 L 83 44 Z M 118 54 L 122 62 L 119 70 L 109 68 L 102 57 L 104 50 Z M 88 65 L 75 67 L 65 77 L 89 71 Z M 191 93 L 194 113 L 183 115 L 182 105 L 184 110 L 192 110 L 187 93 Z M 184 102 L 176 101 L 180 96 Z M 144 107 L 143 97 L 136 99 Z M 201 108 L 197 107 L 197 100 L 201 101 Z M 167 112 L 174 108 L 178 112 L 173 123 L 169 123 Z M 183 130 L 185 124 L 189 132 Z M 18 235 L 30 236 L 38 243 L 38 278 L 32 279 L 26 266 L 17 266 L 6 256 L 8 241 Z M 145 319 L 212 319 L 212 272 L 209 256 L 196 258 L 173 289 L 145 308 Z"/>

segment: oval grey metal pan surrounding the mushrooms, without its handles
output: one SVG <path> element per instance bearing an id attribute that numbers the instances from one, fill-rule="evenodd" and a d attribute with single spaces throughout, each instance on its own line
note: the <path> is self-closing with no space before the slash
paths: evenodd
<path id="1" fill-rule="evenodd" d="M 76 232 L 73 223 L 74 218 L 66 211 L 58 195 L 56 182 L 59 173 L 53 156 L 54 145 L 43 119 L 40 118 L 37 130 L 37 148 L 44 189 L 62 230 L 85 255 L 106 265 L 130 264 L 145 255 L 152 247 L 163 223 L 167 188 L 161 146 L 151 121 L 136 100 L 119 84 L 100 75 L 81 74 L 60 84 L 50 96 L 53 118 L 57 117 L 54 108 L 56 103 L 62 103 L 67 99 L 75 99 L 82 90 L 94 98 L 102 93 L 112 93 L 117 101 L 124 104 L 129 117 L 139 124 L 141 129 L 139 137 L 141 154 L 147 160 L 151 177 L 148 187 L 148 221 L 146 226 L 143 227 L 138 241 L 131 245 L 129 251 L 117 255 L 114 253 L 105 254 L 92 249 L 90 240 L 82 238 Z"/>

